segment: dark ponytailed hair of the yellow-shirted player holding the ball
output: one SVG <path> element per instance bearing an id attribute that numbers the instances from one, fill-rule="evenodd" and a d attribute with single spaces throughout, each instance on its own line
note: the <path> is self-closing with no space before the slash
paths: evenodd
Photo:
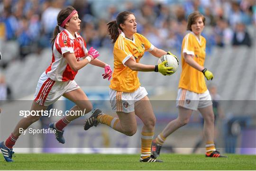
<path id="1" fill-rule="evenodd" d="M 120 12 L 117 16 L 116 20 L 110 21 L 107 25 L 108 27 L 108 34 L 110 34 L 110 39 L 113 40 L 112 43 L 114 44 L 117 41 L 117 38 L 119 36 L 119 29 L 123 31 L 121 28 L 120 24 L 124 24 L 125 20 L 127 17 L 133 14 L 132 12 L 129 11 L 123 11 Z M 134 14 L 133 14 L 134 15 Z"/>

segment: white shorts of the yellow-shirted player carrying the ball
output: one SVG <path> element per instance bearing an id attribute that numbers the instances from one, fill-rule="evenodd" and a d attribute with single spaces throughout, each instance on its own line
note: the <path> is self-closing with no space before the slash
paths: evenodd
<path id="1" fill-rule="evenodd" d="M 134 104 L 147 95 L 146 89 L 139 86 L 135 92 L 119 92 L 110 89 L 110 103 L 113 111 L 129 113 L 134 110 Z"/>

